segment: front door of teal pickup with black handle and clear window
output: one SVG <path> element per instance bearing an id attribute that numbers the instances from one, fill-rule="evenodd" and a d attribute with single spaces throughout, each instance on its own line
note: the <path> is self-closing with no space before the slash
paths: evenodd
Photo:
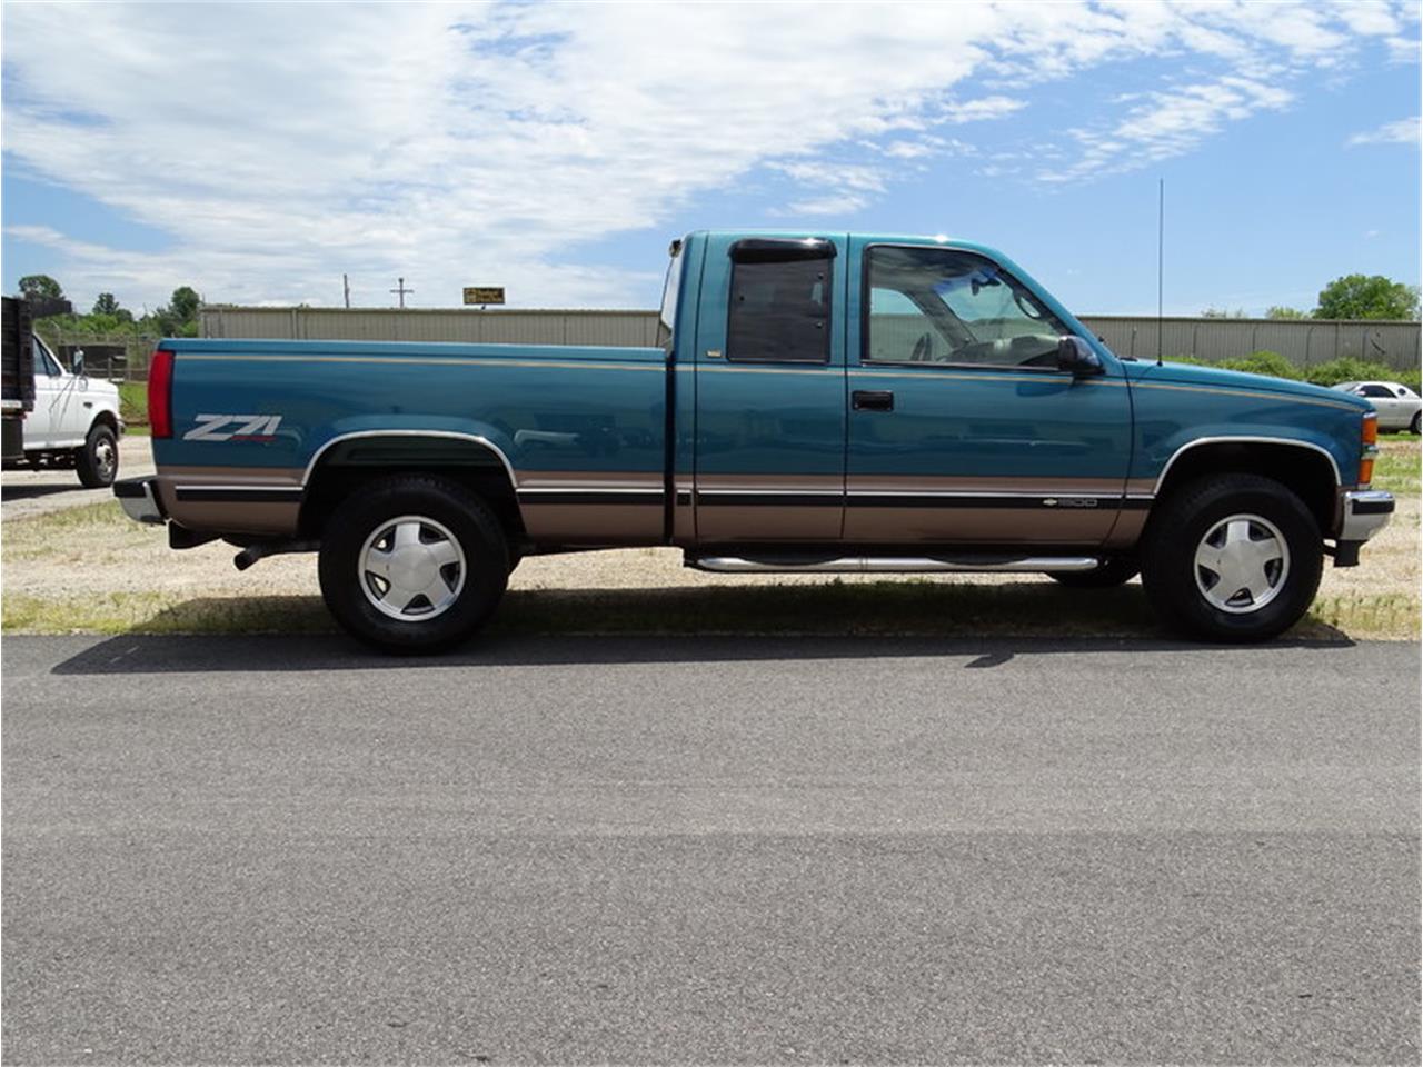
<path id="1" fill-rule="evenodd" d="M 1127 501 L 1121 367 L 1057 368 L 1070 329 L 992 259 L 855 240 L 845 538 L 1097 545 Z"/>

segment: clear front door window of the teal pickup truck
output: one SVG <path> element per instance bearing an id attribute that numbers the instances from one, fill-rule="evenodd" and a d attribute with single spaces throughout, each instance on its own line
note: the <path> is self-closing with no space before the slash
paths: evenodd
<path id="1" fill-rule="evenodd" d="M 1057 366 L 1067 327 L 993 260 L 942 248 L 867 252 L 867 363 Z"/>

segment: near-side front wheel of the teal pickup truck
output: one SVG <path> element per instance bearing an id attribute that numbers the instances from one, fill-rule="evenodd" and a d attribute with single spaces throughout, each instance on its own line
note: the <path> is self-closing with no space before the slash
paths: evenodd
<path id="1" fill-rule="evenodd" d="M 1232 519 L 1244 525 L 1228 525 Z M 1254 566 L 1265 576 L 1258 606 L 1245 585 L 1234 596 L 1220 586 L 1222 576 L 1237 572 L 1198 565 L 1198 549 L 1224 553 L 1232 538 L 1255 546 Z M 1275 559 L 1259 562 L 1272 553 Z M 1279 482 L 1254 474 L 1207 477 L 1174 491 L 1153 514 L 1141 553 L 1141 585 L 1161 620 L 1215 642 L 1262 642 L 1284 633 L 1309 610 L 1322 572 L 1323 542 L 1309 508 Z"/>

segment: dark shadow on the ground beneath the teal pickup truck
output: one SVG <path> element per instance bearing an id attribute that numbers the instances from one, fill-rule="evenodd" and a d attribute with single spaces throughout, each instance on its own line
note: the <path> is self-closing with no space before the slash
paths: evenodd
<path id="1" fill-rule="evenodd" d="M 273 625 L 277 620 L 286 625 Z M 221 636 L 212 633 L 215 623 Z M 1020 656 L 1063 653 L 1268 654 L 1286 647 L 1353 646 L 1345 633 L 1318 622 L 1265 646 L 1173 640 L 1155 623 L 1140 586 L 1083 592 L 1033 582 L 514 590 L 484 635 L 450 652 L 417 657 L 383 654 L 332 632 L 314 596 L 186 600 L 142 629 L 147 633 L 87 647 L 57 664 L 54 673 L 864 657 L 936 657 L 965 660 L 951 664 L 955 667 L 986 669 Z"/>

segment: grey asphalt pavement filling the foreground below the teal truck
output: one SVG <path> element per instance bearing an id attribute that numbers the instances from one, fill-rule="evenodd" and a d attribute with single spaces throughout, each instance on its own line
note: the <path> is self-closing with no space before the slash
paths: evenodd
<path id="1" fill-rule="evenodd" d="M 1419 649 L 6 637 L 6 1063 L 1417 1063 Z"/>

